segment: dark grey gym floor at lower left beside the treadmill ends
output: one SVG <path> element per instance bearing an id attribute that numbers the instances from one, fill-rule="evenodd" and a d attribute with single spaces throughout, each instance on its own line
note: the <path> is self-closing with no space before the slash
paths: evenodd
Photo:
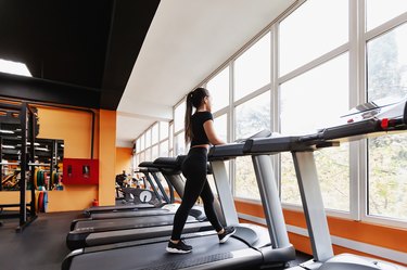
<path id="1" fill-rule="evenodd" d="M 40 214 L 23 232 L 16 233 L 17 219 L 2 219 L 0 227 L 0 269 L 1 270 L 58 270 L 69 253 L 65 237 L 73 219 L 81 211 Z M 1 216 L 0 216 L 1 219 Z M 295 266 L 310 256 L 297 253 Z M 91 270 L 91 269 L 89 269 Z"/>

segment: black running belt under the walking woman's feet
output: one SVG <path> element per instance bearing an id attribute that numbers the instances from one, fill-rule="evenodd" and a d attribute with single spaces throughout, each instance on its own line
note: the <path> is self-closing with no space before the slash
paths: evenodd
<path id="1" fill-rule="evenodd" d="M 74 256 L 71 261 L 71 270 L 136 270 L 136 269 L 176 269 L 176 267 L 191 266 L 200 268 L 204 263 L 233 258 L 233 261 L 244 265 L 236 258 L 234 252 L 244 250 L 239 257 L 250 257 L 253 265 L 263 261 L 262 254 L 249 248 L 246 244 L 233 236 L 225 244 L 219 244 L 216 234 L 187 239 L 187 243 L 193 246 L 193 250 L 187 255 L 169 254 L 165 250 L 168 242 L 153 243 L 149 245 L 128 246 L 101 252 L 90 252 Z M 65 269 L 65 268 L 63 268 Z"/>

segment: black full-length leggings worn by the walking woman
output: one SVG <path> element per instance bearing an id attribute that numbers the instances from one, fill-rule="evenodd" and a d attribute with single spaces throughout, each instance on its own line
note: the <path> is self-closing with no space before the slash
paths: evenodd
<path id="1" fill-rule="evenodd" d="M 181 205 L 174 217 L 171 240 L 181 237 L 189 211 L 201 196 L 207 219 L 218 232 L 222 229 L 214 208 L 214 194 L 206 179 L 207 150 L 205 147 L 190 149 L 182 164 L 182 175 L 187 178 Z"/>

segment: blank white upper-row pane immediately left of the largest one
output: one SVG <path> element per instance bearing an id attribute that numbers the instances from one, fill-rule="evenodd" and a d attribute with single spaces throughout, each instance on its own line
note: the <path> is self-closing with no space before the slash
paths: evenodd
<path id="1" fill-rule="evenodd" d="M 270 34 L 264 36 L 234 62 L 234 100 L 270 82 Z"/>

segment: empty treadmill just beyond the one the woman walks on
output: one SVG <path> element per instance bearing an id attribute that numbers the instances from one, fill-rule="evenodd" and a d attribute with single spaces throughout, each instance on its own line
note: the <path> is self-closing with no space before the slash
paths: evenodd
<path id="1" fill-rule="evenodd" d="M 166 167 L 166 171 L 173 171 L 179 175 L 178 169 L 180 158 L 160 159 L 158 164 L 140 164 L 149 169 L 157 169 L 161 166 Z M 170 170 L 173 168 L 173 170 Z M 160 181 L 158 179 L 156 179 Z M 183 192 L 183 187 L 182 192 Z M 164 189 L 163 189 L 164 190 Z M 182 192 L 179 191 L 181 194 Z M 152 236 L 168 236 L 173 229 L 174 215 L 177 206 L 167 205 L 162 209 L 139 210 L 128 217 L 107 218 L 107 219 L 80 219 L 74 220 L 71 224 L 71 232 L 66 236 L 66 245 L 71 250 L 102 244 L 113 244 L 125 241 L 148 239 Z M 126 214 L 126 213 L 120 213 Z M 93 214 L 97 215 L 97 214 Z M 105 216 L 107 214 L 98 214 Z M 206 221 L 206 216 L 201 206 L 194 206 L 187 219 L 185 231 L 199 232 L 212 230 L 212 226 Z"/>

